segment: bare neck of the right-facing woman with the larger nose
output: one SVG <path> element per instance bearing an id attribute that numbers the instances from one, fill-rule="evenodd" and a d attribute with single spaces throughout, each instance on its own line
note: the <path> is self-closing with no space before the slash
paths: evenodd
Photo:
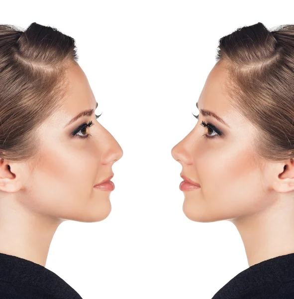
<path id="1" fill-rule="evenodd" d="M 46 266 L 52 238 L 63 221 L 28 210 L 11 197 L 0 200 L 0 253 Z"/>

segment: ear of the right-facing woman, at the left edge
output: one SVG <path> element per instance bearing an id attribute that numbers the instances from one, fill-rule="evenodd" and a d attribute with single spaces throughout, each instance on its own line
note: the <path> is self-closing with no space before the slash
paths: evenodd
<path id="1" fill-rule="evenodd" d="M 15 163 L 0 159 L 0 191 L 15 193 L 25 187 L 28 179 L 25 163 Z"/>

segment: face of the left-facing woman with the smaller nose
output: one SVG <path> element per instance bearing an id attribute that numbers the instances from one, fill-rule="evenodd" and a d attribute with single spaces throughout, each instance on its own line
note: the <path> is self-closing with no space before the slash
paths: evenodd
<path id="1" fill-rule="evenodd" d="M 183 166 L 181 175 L 200 185 L 183 190 L 183 211 L 199 222 L 249 216 L 274 203 L 261 196 L 269 182 L 261 183 L 265 176 L 252 146 L 256 130 L 230 107 L 224 80 L 222 62 L 212 68 L 201 91 L 195 128 L 172 149 Z"/>

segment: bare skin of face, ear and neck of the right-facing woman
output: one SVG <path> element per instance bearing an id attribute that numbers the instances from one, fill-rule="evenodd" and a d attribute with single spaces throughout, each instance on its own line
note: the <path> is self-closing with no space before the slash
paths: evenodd
<path id="1" fill-rule="evenodd" d="M 97 103 L 79 65 L 69 66 L 67 78 L 70 90 L 62 109 L 39 128 L 38 165 L 33 169 L 34 163 L 0 160 L 0 252 L 44 267 L 63 221 L 97 222 L 109 215 L 110 192 L 94 185 L 113 174 L 112 164 L 123 154 L 95 113 L 64 128 L 80 112 L 96 109 Z M 90 139 L 72 136 L 91 120 L 95 125 L 78 133 L 91 134 Z"/>

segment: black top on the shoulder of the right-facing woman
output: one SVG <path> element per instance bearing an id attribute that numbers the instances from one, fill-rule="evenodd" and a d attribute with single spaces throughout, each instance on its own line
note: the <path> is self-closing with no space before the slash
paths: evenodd
<path id="1" fill-rule="evenodd" d="M 0 299 L 82 299 L 62 278 L 34 262 L 0 253 Z"/>

